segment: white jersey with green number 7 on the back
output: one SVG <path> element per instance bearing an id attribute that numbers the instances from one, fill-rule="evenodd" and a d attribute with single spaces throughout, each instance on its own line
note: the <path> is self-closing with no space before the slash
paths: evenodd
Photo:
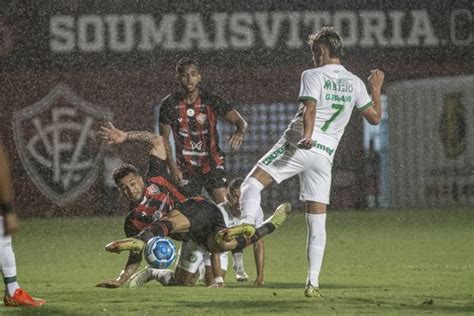
<path id="1" fill-rule="evenodd" d="M 363 111 L 372 99 L 362 80 L 338 64 L 308 69 L 301 75 L 298 100 L 316 102 L 316 119 L 312 139 L 314 150 L 327 155 L 331 161 L 354 106 Z M 284 137 L 296 145 L 303 135 L 304 104 L 285 131 Z"/>

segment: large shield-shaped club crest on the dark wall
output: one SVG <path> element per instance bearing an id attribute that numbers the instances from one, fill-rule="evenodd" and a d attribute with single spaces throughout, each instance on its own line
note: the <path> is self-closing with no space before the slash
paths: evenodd
<path id="1" fill-rule="evenodd" d="M 96 137 L 112 112 L 93 105 L 59 84 L 35 104 L 13 113 L 20 159 L 38 189 L 59 206 L 87 191 L 102 159 Z"/>

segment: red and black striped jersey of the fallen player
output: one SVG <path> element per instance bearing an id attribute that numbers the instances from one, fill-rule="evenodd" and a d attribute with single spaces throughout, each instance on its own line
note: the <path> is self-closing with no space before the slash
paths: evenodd
<path id="1" fill-rule="evenodd" d="M 140 203 L 131 205 L 125 218 L 126 236 L 137 235 L 148 224 L 168 214 L 174 207 L 179 207 L 185 199 L 170 180 L 164 161 L 150 156 L 143 199 Z"/>

